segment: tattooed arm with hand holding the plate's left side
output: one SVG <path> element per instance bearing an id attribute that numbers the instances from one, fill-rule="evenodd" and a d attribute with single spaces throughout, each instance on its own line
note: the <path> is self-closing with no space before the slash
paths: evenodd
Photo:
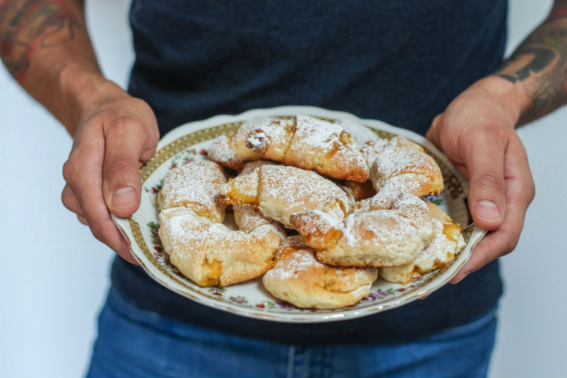
<path id="1" fill-rule="evenodd" d="M 140 164 L 159 132 L 147 104 L 101 74 L 82 0 L 0 0 L 0 57 L 6 68 L 74 138 L 63 167 L 63 204 L 130 262 L 110 213 L 140 204 Z"/>

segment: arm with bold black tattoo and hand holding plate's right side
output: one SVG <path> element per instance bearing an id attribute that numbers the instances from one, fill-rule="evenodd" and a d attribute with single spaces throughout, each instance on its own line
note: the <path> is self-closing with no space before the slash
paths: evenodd
<path id="1" fill-rule="evenodd" d="M 490 230 L 452 282 L 514 250 L 534 198 L 527 155 L 515 127 L 567 101 L 567 0 L 492 75 L 439 114 L 427 133 L 468 177 L 474 221 Z"/>

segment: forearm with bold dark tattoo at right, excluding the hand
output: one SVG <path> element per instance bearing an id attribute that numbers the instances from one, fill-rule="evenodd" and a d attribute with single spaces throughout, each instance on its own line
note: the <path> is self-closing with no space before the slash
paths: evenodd
<path id="1" fill-rule="evenodd" d="M 567 1 L 556 1 L 548 18 L 493 74 L 519 121 L 528 123 L 567 101 Z M 505 82 L 501 79 L 504 79 Z"/>

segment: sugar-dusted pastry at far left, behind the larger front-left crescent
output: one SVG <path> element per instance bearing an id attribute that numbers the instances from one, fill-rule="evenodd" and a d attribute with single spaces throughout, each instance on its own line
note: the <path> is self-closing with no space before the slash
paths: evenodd
<path id="1" fill-rule="evenodd" d="M 213 222 L 225 218 L 226 204 L 220 200 L 220 187 L 226 182 L 223 167 L 198 160 L 171 169 L 157 194 L 159 209 L 183 206 Z"/>

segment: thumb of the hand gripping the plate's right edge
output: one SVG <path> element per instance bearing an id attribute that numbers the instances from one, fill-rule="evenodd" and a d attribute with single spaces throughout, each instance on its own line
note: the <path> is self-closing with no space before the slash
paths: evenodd
<path id="1" fill-rule="evenodd" d="M 475 136 L 464 159 L 468 169 L 468 207 L 475 223 L 495 230 L 506 210 L 504 154 L 506 139 L 492 135 Z"/>

